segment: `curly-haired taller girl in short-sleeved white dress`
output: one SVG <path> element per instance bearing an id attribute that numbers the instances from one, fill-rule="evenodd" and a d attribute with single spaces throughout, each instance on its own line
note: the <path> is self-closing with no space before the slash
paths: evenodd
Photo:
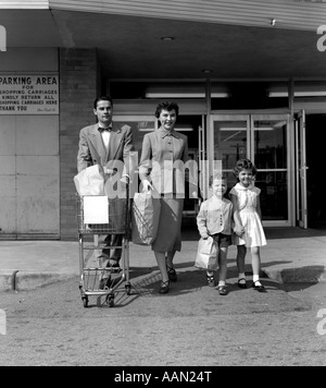
<path id="1" fill-rule="evenodd" d="M 237 245 L 238 286 L 247 288 L 244 276 L 244 258 L 247 247 L 251 250 L 253 284 L 252 287 L 265 292 L 260 282 L 261 256 L 260 246 L 266 245 L 265 233 L 262 226 L 260 206 L 261 190 L 252 184 L 256 169 L 249 159 L 237 161 L 234 173 L 238 183 L 229 192 L 234 205 L 235 235 L 234 243 Z"/>

